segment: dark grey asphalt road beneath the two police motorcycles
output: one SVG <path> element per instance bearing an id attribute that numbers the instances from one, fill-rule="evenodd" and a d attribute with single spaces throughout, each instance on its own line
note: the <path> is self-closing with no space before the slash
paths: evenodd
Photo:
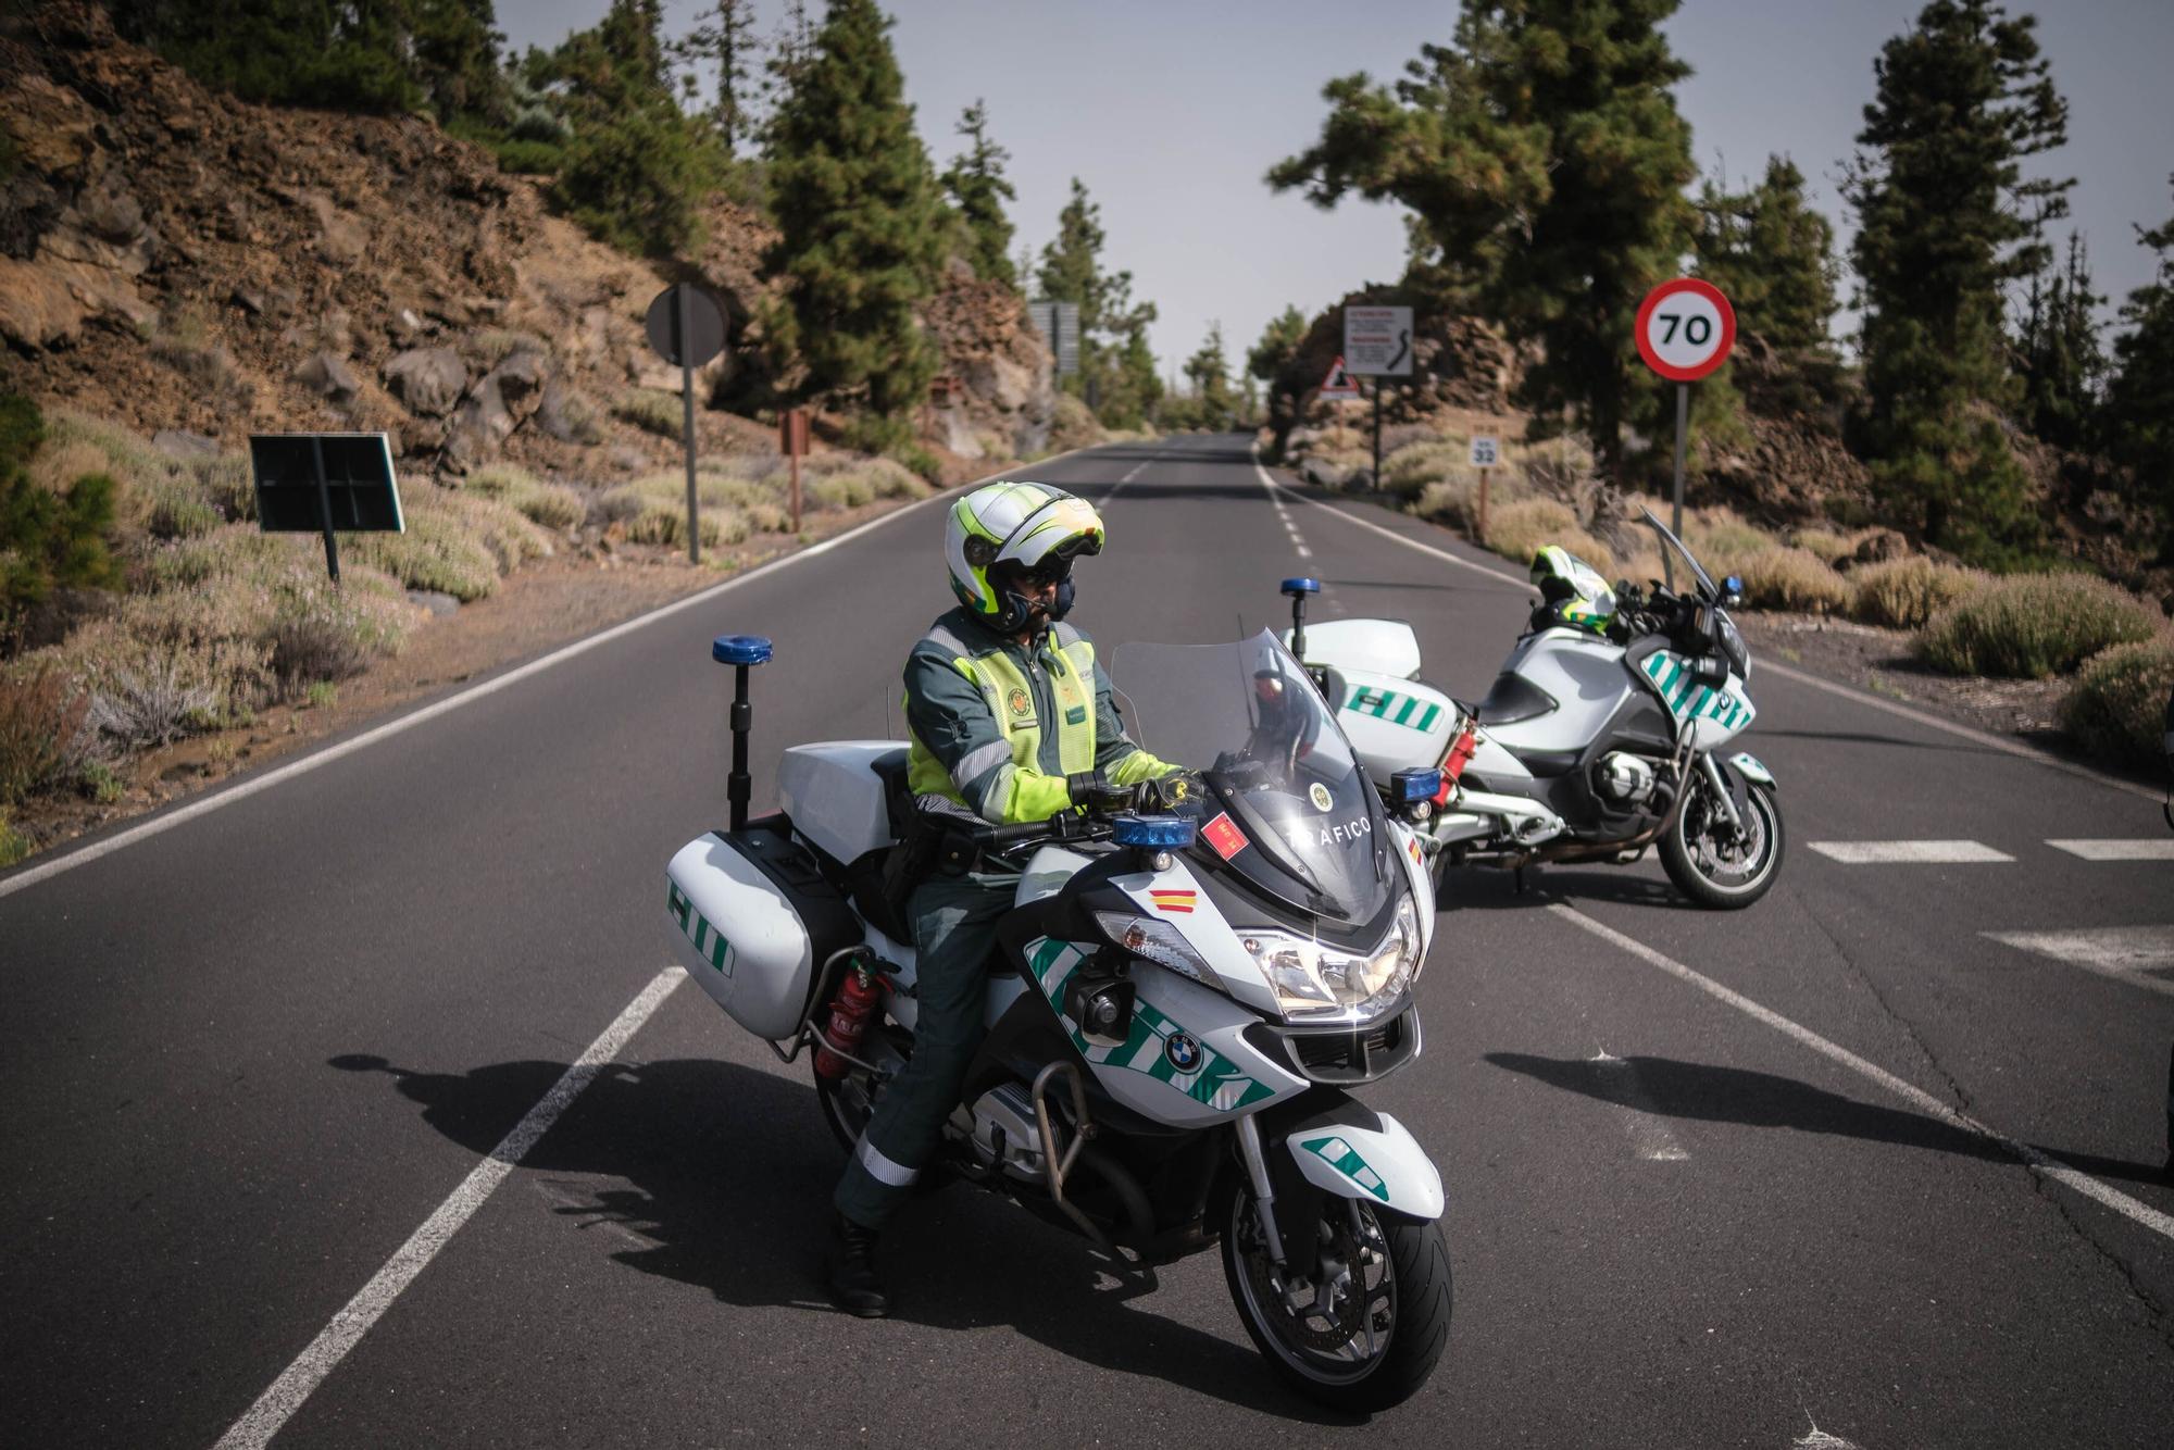
<path id="1" fill-rule="evenodd" d="M 1530 600 L 1413 520 L 1272 489 L 1237 439 L 1037 476 L 1104 507 L 1076 613 L 1104 650 L 1278 624 L 1276 580 L 1311 572 L 1315 617 L 1407 617 L 1472 696 Z M 724 817 L 709 639 L 776 641 L 763 804 L 787 743 L 898 733 L 948 604 L 937 530 L 920 504 L 0 878 L 0 1443 L 211 1446 L 298 1357 L 322 1383 L 280 1446 L 2174 1441 L 2174 974 L 1987 935 L 2174 922 L 2174 863 L 2048 846 L 2159 839 L 2157 807 L 1774 670 L 1746 739 L 1791 839 L 1765 902 L 1696 911 L 1654 863 L 1446 896 L 1426 1052 L 1367 1098 L 1441 1165 L 1457 1320 L 1370 1424 L 1276 1387 L 1213 1254 L 1139 1291 L 965 1189 L 889 1235 L 898 1317 L 833 1313 L 811 1272 L 841 1154 L 807 1065 L 694 987 L 480 1196 L 478 1163 L 670 985 L 659 876 Z M 1811 848 L 1894 839 L 2004 859 Z M 463 1185 L 472 1217 L 326 1352 Z"/>

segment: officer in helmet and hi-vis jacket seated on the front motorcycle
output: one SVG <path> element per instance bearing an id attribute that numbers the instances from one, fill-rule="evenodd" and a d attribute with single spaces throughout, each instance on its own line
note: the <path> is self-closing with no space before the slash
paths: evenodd
<path id="1" fill-rule="evenodd" d="M 1065 624 L 1072 561 L 1102 552 L 1091 504 L 1046 483 L 991 483 L 957 504 L 944 559 L 959 607 L 907 657 L 907 785 L 922 830 L 946 815 L 1020 824 L 1070 809 L 1167 809 L 1189 778 L 1130 741 L 1094 643 Z M 830 1298 L 891 1309 L 876 1235 L 928 1165 L 983 1039 L 985 965 L 1017 874 L 946 841 L 907 904 L 917 952 L 913 1057 L 876 1100 L 833 1198 Z M 911 850 L 911 848 L 909 848 Z"/>

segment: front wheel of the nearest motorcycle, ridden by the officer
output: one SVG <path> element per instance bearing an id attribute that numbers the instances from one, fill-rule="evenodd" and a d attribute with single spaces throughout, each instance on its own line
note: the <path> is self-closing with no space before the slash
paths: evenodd
<path id="1" fill-rule="evenodd" d="M 1280 1207 L 1280 1204 L 1278 1204 Z M 1322 1198 L 1313 1280 L 1267 1254 L 1250 1185 L 1230 1196 L 1222 1257 L 1254 1348 L 1309 1400 L 1370 1415 L 1409 1400 L 1450 1341 L 1450 1254 L 1441 1228 Z"/>

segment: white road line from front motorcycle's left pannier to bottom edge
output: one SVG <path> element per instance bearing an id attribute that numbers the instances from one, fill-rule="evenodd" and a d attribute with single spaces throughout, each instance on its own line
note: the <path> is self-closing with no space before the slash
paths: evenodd
<path id="1" fill-rule="evenodd" d="M 572 1067 L 544 1093 L 541 1102 L 528 1109 L 513 1133 L 507 1133 L 498 1148 L 491 1148 L 491 1157 L 476 1163 L 474 1172 L 461 1180 L 461 1187 L 452 1191 L 452 1198 L 437 1207 L 437 1213 L 424 1220 L 407 1243 L 402 1243 L 385 1267 L 357 1291 L 348 1307 L 333 1315 L 309 1348 L 287 1370 L 272 1380 L 272 1387 L 257 1396 L 257 1404 L 248 1409 L 241 1420 L 233 1424 L 226 1435 L 220 1437 L 215 1450 L 254 1450 L 265 1446 L 280 1426 L 302 1409 L 302 1402 L 324 1383 L 339 1361 L 352 1350 L 370 1326 L 376 1324 L 391 1302 L 400 1298 L 400 1291 L 415 1283 L 415 1276 L 424 1272 L 437 1250 L 446 1248 L 446 1241 L 459 1233 L 461 1224 L 483 1207 L 483 1200 L 507 1180 L 507 1174 L 537 1146 L 554 1122 L 559 1113 L 580 1096 L 604 1063 L 620 1054 L 620 1048 L 641 1030 L 641 1024 L 650 1020 L 672 989 L 687 978 L 680 967 L 665 967 L 659 972 L 648 987 L 644 987 L 633 1002 L 604 1028 L 604 1033 L 589 1043 L 589 1050 L 576 1059 Z"/>

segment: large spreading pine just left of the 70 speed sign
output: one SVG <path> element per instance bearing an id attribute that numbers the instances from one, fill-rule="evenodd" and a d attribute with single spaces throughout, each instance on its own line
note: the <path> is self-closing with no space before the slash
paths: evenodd
<path id="1" fill-rule="evenodd" d="M 1454 43 L 1396 89 L 1333 80 L 1322 139 L 1270 170 L 1320 207 L 1348 191 L 1413 215 L 1413 276 L 1470 291 L 1541 343 L 1522 402 L 1570 415 L 1620 474 L 1630 326 L 1691 235 L 1689 74 L 1661 33 L 1676 0 L 1465 0 Z"/>

